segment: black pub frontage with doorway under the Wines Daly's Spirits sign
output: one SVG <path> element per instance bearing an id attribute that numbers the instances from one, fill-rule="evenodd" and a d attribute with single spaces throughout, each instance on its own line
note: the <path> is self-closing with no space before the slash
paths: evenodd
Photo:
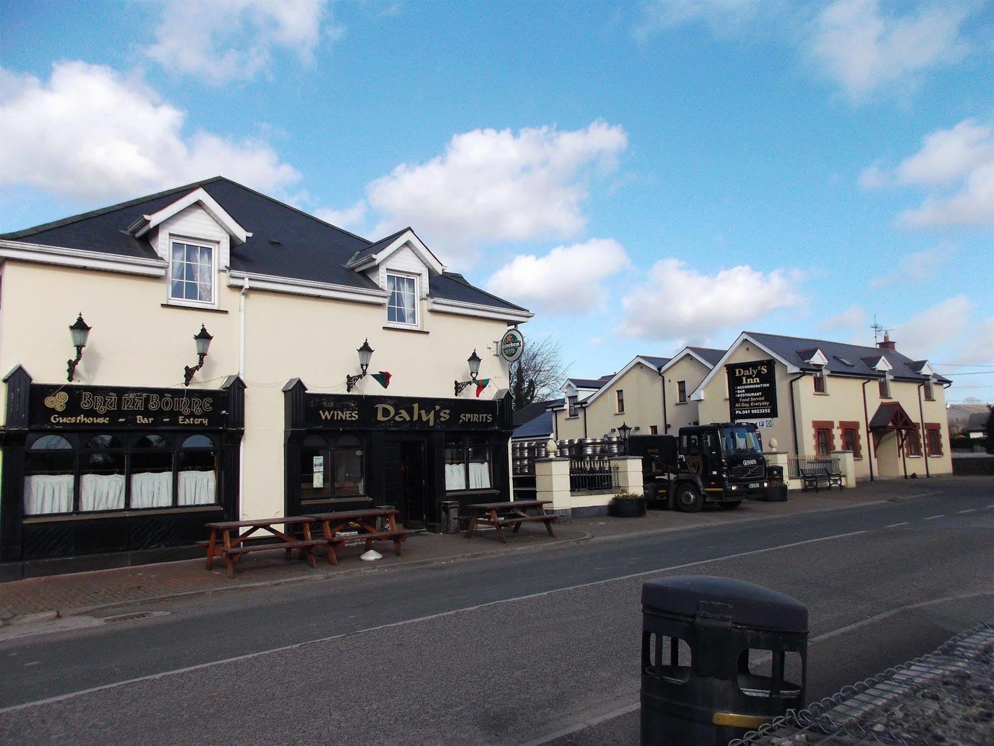
<path id="1" fill-rule="evenodd" d="M 510 499 L 511 400 L 308 393 L 283 388 L 285 514 L 393 505 L 439 530 L 441 503 Z"/>

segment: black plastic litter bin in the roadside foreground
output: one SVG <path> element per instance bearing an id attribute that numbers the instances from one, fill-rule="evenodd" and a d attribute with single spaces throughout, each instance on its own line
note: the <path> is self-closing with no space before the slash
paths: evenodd
<path id="1" fill-rule="evenodd" d="M 725 746 L 804 706 L 807 607 L 688 575 L 642 586 L 642 744 Z"/>

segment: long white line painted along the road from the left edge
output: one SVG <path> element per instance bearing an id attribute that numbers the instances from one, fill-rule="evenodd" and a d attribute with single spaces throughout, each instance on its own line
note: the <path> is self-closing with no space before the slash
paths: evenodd
<path id="1" fill-rule="evenodd" d="M 475 612 L 480 609 L 486 609 L 491 606 L 498 606 L 501 604 L 511 604 L 518 601 L 530 601 L 532 599 L 543 598 L 545 596 L 552 596 L 556 593 L 564 593 L 566 591 L 577 591 L 581 588 L 592 588 L 593 586 L 604 585 L 606 583 L 616 583 L 622 580 L 632 580 L 633 578 L 643 578 L 647 575 L 657 575 L 659 573 L 669 572 L 671 570 L 683 570 L 688 567 L 694 567 L 695 565 L 706 565 L 711 562 L 723 562 L 725 560 L 737 559 L 739 557 L 748 557 L 753 554 L 762 554 L 764 552 L 773 552 L 778 549 L 790 549 L 796 546 L 804 546 L 805 544 L 814 544 L 819 541 L 830 541 L 831 539 L 843 539 L 849 536 L 857 536 L 859 534 L 866 533 L 865 530 L 861 531 L 850 531 L 848 533 L 837 533 L 831 536 L 820 536 L 817 539 L 805 539 L 804 541 L 794 541 L 789 544 L 778 544 L 776 546 L 765 547 L 763 549 L 752 549 L 747 552 L 737 552 L 735 554 L 727 554 L 724 557 L 710 557 L 708 559 L 698 560 L 696 562 L 687 562 L 682 565 L 671 565 L 669 567 L 659 567 L 655 570 L 644 570 L 638 573 L 630 573 L 628 575 L 620 575 L 615 578 L 605 578 L 603 580 L 594 580 L 589 583 L 579 583 L 574 586 L 568 586 L 566 588 L 554 588 L 550 591 L 540 591 L 538 593 L 529 593 L 525 596 L 516 596 L 510 599 L 499 599 L 498 601 L 488 601 L 484 604 L 477 604 L 475 606 L 467 606 L 461 609 L 452 609 L 447 612 L 438 612 L 437 614 L 428 614 L 423 617 L 415 617 L 414 619 L 405 619 L 400 622 L 391 622 L 386 625 L 378 625 L 376 627 L 368 627 L 365 630 L 355 630 L 353 632 L 344 632 L 338 635 L 329 635 L 324 638 L 316 638 L 314 640 L 305 640 L 300 643 L 292 643 L 290 645 L 280 646 L 278 648 L 269 648 L 264 651 L 255 651 L 253 653 L 243 653 L 242 655 L 233 655 L 231 657 L 221 658 L 220 660 L 208 660 L 203 663 L 195 663 L 194 665 L 185 665 L 182 668 L 173 668 L 171 670 L 159 671 L 158 673 L 148 673 L 144 676 L 135 676 L 134 678 L 126 678 L 121 681 L 112 681 L 110 683 L 100 684 L 98 686 L 90 686 L 85 689 L 80 689 L 79 691 L 70 691 L 65 694 L 57 694 L 51 697 L 45 697 L 44 699 L 36 699 L 31 702 L 22 702 L 20 704 L 11 704 L 6 707 L 0 707 L 0 715 L 6 714 L 7 712 L 17 712 L 18 710 L 27 709 L 28 707 L 36 707 L 41 704 L 54 704 L 56 702 L 62 702 L 66 699 L 73 699 L 74 697 L 81 696 L 83 694 L 92 694 L 97 691 L 104 691 L 106 689 L 114 689 L 119 686 L 127 686 L 129 684 L 140 683 L 141 681 L 154 681 L 159 678 L 165 678 L 167 676 L 174 676 L 180 673 L 191 673 L 193 671 L 204 670 L 206 668 L 212 668 L 216 665 L 223 665 L 225 663 L 235 663 L 241 662 L 243 660 L 252 660 L 256 657 L 261 657 L 262 655 L 268 655 L 270 653 L 286 653 L 288 651 L 294 651 L 298 648 L 303 648 L 308 645 L 318 645 L 321 643 L 331 643 L 336 640 L 343 640 L 345 638 L 351 638 L 358 635 L 365 635 L 371 632 L 380 632 L 382 630 L 392 630 L 396 627 L 404 627 L 405 625 L 416 624 L 419 622 L 431 622 L 436 619 L 445 619 L 446 617 L 452 617 L 456 614 L 462 614 L 463 612 Z"/>

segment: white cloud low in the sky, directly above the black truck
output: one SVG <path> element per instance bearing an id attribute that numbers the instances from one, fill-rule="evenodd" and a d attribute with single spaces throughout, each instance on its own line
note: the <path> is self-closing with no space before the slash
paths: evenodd
<path id="1" fill-rule="evenodd" d="M 747 265 L 702 275 L 677 259 L 654 264 L 647 281 L 621 300 L 617 330 L 651 339 L 703 339 L 769 311 L 800 303 L 797 271 L 762 273 Z"/>

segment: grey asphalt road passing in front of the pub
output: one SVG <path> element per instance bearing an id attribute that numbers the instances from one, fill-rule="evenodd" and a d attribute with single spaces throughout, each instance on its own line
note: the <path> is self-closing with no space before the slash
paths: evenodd
<path id="1" fill-rule="evenodd" d="M 821 697 L 994 618 L 994 480 L 914 491 L 115 610 L 0 643 L 0 741 L 634 743 L 641 584 L 685 573 L 807 604 Z"/>

